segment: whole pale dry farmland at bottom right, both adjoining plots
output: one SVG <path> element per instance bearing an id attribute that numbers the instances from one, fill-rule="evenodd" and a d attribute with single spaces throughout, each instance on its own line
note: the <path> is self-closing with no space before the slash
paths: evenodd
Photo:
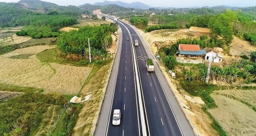
<path id="1" fill-rule="evenodd" d="M 228 135 L 254 135 L 256 111 L 240 100 L 255 107 L 256 90 L 221 90 L 211 95 L 218 108 L 208 111 Z M 254 92 L 254 93 L 253 93 Z M 239 98 L 239 100 L 234 99 Z"/>

